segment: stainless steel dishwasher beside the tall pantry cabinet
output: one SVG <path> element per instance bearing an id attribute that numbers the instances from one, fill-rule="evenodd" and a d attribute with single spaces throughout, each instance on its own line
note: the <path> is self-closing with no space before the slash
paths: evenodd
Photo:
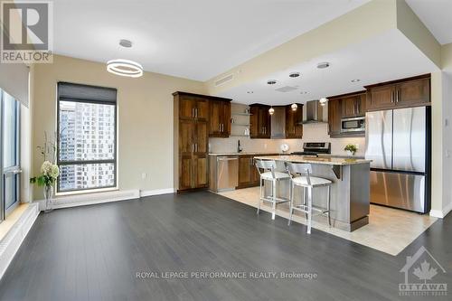
<path id="1" fill-rule="evenodd" d="M 217 156 L 216 191 L 234 190 L 239 185 L 239 157 Z"/>

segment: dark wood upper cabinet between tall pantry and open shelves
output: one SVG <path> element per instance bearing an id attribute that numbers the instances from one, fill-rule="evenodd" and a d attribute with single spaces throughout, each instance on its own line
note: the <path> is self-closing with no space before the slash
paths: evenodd
<path id="1" fill-rule="evenodd" d="M 229 137 L 231 135 L 231 102 L 211 100 L 209 106 L 209 136 Z"/>

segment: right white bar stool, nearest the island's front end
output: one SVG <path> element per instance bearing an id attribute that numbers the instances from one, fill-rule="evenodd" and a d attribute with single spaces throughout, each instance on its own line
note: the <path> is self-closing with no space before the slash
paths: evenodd
<path id="1" fill-rule="evenodd" d="M 331 182 L 328 179 L 311 176 L 312 174 L 312 166 L 310 164 L 299 164 L 299 163 L 286 163 L 287 173 L 290 176 L 291 182 L 291 193 L 290 193 L 290 208 L 288 214 L 288 222 L 287 225 L 290 225 L 290 221 L 292 221 L 292 213 L 294 210 L 305 212 L 305 216 L 307 214 L 307 234 L 311 234 L 311 224 L 312 224 L 312 213 L 320 212 L 320 214 L 327 214 L 328 216 L 328 224 L 331 226 L 331 217 L 330 217 L 330 200 L 331 200 Z M 294 176 L 294 174 L 299 174 Z M 294 203 L 294 190 L 295 186 L 302 187 L 303 192 L 303 204 L 295 205 Z M 315 187 L 327 187 L 327 201 L 326 201 L 326 210 L 315 207 L 312 204 L 312 190 Z M 306 195 L 307 195 L 307 205 L 306 205 Z M 317 214 L 318 215 L 318 214 Z"/>

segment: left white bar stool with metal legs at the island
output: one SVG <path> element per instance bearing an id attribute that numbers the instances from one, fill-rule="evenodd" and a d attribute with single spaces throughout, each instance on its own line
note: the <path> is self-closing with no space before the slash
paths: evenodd
<path id="1" fill-rule="evenodd" d="M 266 201 L 271 202 L 273 207 L 273 212 L 271 213 L 271 219 L 275 220 L 275 213 L 277 211 L 277 204 L 281 202 L 289 202 L 288 199 L 278 198 L 277 194 L 277 183 L 280 181 L 290 181 L 290 176 L 287 173 L 276 172 L 277 163 L 274 160 L 256 160 L 256 167 L 259 171 L 259 202 L 258 202 L 258 214 L 260 210 L 260 202 Z M 271 182 L 271 195 L 268 198 L 265 197 L 265 192 L 262 193 L 262 187 L 264 181 Z"/>

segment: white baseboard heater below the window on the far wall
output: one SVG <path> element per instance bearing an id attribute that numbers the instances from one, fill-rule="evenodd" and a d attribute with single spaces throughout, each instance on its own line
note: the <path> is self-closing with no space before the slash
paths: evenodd
<path id="1" fill-rule="evenodd" d="M 103 202 L 127 201 L 139 199 L 139 197 L 140 197 L 139 190 L 61 195 L 53 200 L 54 202 L 53 209 L 93 205 Z M 39 202 L 40 210 L 45 209 L 45 200 L 39 200 L 35 202 Z"/>

